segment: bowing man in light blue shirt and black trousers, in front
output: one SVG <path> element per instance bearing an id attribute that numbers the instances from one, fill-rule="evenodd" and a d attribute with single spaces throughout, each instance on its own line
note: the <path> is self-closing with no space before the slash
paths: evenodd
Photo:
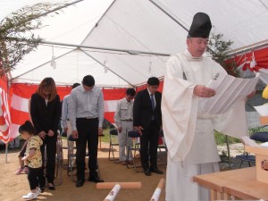
<path id="1" fill-rule="evenodd" d="M 82 85 L 71 90 L 68 100 L 69 119 L 71 121 L 72 137 L 76 138 L 76 187 L 82 187 L 85 182 L 85 157 L 88 142 L 88 180 L 104 182 L 97 174 L 98 135 L 103 132 L 105 114 L 104 95 L 101 88 L 96 88 L 93 76 L 87 75 Z"/>

